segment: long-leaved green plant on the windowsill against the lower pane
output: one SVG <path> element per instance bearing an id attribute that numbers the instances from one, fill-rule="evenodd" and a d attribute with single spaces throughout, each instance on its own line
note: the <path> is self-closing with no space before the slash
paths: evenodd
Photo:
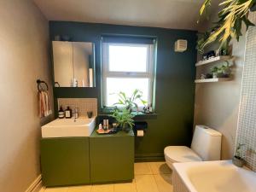
<path id="1" fill-rule="evenodd" d="M 120 91 L 117 95 L 119 96 L 119 102 L 116 102 L 113 105 L 125 107 L 130 113 L 133 108 L 136 108 L 138 110 L 138 106 L 137 106 L 138 100 L 142 102 L 144 106 L 147 103 L 142 99 L 143 91 L 141 90 L 137 90 L 137 89 L 134 90 L 131 96 L 126 96 L 125 92 L 123 91 Z"/>

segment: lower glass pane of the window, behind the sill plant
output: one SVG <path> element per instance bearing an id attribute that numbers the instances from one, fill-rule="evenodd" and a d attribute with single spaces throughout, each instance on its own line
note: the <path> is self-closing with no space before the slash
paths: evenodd
<path id="1" fill-rule="evenodd" d="M 143 100 L 148 102 L 148 83 L 149 79 L 107 78 L 107 107 L 111 107 L 113 103 L 119 101 L 119 96 L 113 93 L 123 91 L 126 96 L 130 97 L 135 89 L 143 91 Z M 137 105 L 142 107 L 143 103 L 137 101 Z"/>

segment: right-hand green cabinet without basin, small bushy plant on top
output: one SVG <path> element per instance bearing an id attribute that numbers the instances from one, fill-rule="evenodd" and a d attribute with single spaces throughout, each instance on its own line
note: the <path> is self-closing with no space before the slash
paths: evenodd
<path id="1" fill-rule="evenodd" d="M 131 181 L 134 177 L 134 134 L 90 135 L 90 183 Z"/>

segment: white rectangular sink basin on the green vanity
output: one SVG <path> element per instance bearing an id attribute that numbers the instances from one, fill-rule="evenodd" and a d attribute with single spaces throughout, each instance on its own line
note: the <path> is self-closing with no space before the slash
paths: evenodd
<path id="1" fill-rule="evenodd" d="M 96 117 L 90 119 L 55 119 L 42 126 L 42 137 L 90 137 L 96 126 Z"/>

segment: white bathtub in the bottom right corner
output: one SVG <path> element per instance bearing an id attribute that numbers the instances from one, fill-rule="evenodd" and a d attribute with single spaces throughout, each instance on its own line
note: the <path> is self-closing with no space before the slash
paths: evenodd
<path id="1" fill-rule="evenodd" d="M 230 160 L 175 163 L 174 192 L 256 192 L 256 173 Z"/>

